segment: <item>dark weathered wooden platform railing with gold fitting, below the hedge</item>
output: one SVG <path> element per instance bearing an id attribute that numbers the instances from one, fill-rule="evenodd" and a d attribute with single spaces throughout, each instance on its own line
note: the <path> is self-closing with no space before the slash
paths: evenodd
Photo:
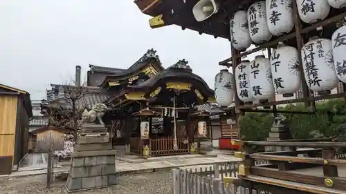
<path id="1" fill-rule="evenodd" d="M 242 142 L 244 159 L 239 166 L 239 178 L 251 184 L 266 184 L 267 191 L 274 186 L 293 188 L 296 193 L 346 193 L 346 142 Z M 304 148 L 301 151 L 256 153 L 261 146 Z M 267 159 L 271 164 L 255 166 L 255 160 Z M 340 177 L 338 168 L 340 170 Z M 344 173 L 344 174 L 342 174 Z M 230 178 L 233 180 L 233 178 Z M 280 181 L 279 181 L 280 180 Z M 268 186 L 268 185 L 272 185 Z M 275 193 L 275 192 L 273 192 Z"/>

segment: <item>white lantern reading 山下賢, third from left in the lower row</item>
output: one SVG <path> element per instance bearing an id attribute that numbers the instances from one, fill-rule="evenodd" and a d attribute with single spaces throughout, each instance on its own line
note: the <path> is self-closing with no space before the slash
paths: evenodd
<path id="1" fill-rule="evenodd" d="M 271 61 L 264 55 L 259 55 L 251 61 L 249 79 L 254 99 L 272 99 L 274 97 Z"/>

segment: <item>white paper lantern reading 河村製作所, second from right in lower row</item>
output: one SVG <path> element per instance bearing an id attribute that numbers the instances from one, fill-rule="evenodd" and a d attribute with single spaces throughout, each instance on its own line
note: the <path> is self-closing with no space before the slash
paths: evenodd
<path id="1" fill-rule="evenodd" d="M 312 37 L 305 43 L 302 48 L 302 65 L 307 86 L 314 92 L 332 90 L 338 86 L 331 40 Z"/>

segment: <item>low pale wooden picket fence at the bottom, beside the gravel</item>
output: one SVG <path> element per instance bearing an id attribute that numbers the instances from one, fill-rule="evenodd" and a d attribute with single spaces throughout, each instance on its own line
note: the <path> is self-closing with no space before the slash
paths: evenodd
<path id="1" fill-rule="evenodd" d="M 274 194 L 228 184 L 227 180 L 230 177 L 237 177 L 238 164 L 239 162 L 226 162 L 215 164 L 210 168 L 174 169 L 172 170 L 173 194 Z M 257 166 L 263 164 L 268 162 L 256 162 Z"/>

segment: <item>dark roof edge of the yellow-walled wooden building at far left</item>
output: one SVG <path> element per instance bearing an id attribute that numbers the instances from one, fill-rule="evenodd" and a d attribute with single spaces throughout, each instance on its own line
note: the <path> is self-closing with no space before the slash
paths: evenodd
<path id="1" fill-rule="evenodd" d="M 33 117 L 33 107 L 31 106 L 30 93 L 24 90 L 0 84 L 0 95 L 18 95 L 24 100 L 24 108 L 28 117 Z"/>

